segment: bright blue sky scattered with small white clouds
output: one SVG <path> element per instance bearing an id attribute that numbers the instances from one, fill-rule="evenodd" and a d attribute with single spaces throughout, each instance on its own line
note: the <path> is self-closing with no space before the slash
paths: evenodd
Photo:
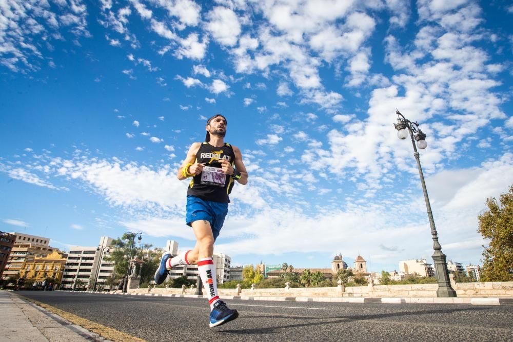
<path id="1" fill-rule="evenodd" d="M 193 246 L 175 173 L 222 113 L 249 171 L 215 248 L 233 263 L 431 260 L 398 108 L 427 134 L 443 252 L 479 263 L 477 216 L 513 184 L 512 18 L 465 0 L 0 0 L 0 230 Z"/>

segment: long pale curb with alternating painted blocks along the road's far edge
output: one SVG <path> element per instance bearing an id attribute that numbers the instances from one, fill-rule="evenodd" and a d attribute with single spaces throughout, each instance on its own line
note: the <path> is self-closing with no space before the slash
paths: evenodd
<path id="1" fill-rule="evenodd" d="M 96 291 L 62 291 L 58 292 L 80 292 L 98 294 L 117 294 L 130 296 L 157 296 L 157 297 L 180 297 L 180 298 L 207 298 L 206 295 L 196 294 L 164 294 L 164 293 L 110 293 Z M 322 303 L 361 303 L 361 304 L 470 304 L 470 305 L 511 305 L 513 298 L 491 298 L 491 297 L 271 297 L 271 296 L 220 296 L 222 299 L 234 300 L 261 300 L 261 301 L 319 301 Z"/>

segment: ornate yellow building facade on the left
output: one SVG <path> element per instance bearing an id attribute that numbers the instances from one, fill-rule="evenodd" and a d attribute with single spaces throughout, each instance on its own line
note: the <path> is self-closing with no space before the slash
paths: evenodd
<path id="1" fill-rule="evenodd" d="M 41 283 L 46 278 L 54 278 L 60 284 L 66 259 L 67 255 L 62 255 L 57 251 L 53 251 L 44 257 L 36 257 L 23 263 L 21 270 L 19 270 L 19 276 L 26 279 L 33 278 L 36 283 Z"/>

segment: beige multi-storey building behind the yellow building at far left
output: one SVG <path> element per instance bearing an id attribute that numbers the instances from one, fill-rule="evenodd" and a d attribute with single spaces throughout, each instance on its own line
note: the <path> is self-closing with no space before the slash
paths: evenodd
<path id="1" fill-rule="evenodd" d="M 50 239 L 48 237 L 36 236 L 24 233 L 13 232 L 15 235 L 14 245 L 11 254 L 5 264 L 2 279 L 7 279 L 15 276 L 21 271 L 23 263 L 30 262 L 36 257 L 46 256 L 53 251 L 58 251 L 57 248 L 50 247 Z"/>

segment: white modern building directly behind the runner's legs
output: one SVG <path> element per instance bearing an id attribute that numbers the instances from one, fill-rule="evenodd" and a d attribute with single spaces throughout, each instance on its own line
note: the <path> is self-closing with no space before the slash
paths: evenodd
<path id="1" fill-rule="evenodd" d="M 174 240 L 167 240 L 165 251 L 171 253 L 172 256 L 176 256 L 181 253 L 178 249 L 178 243 Z M 218 283 L 222 284 L 225 281 L 229 281 L 231 258 L 223 253 L 214 253 L 212 261 L 215 265 Z M 166 280 L 169 281 L 170 279 L 179 278 L 181 276 L 186 276 L 188 280 L 198 280 L 198 265 L 175 266 L 169 271 L 169 275 Z"/>

